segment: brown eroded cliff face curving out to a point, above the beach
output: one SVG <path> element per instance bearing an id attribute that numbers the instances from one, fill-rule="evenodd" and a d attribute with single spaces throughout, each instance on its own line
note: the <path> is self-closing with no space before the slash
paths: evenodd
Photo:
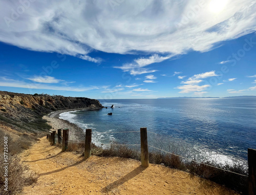
<path id="1" fill-rule="evenodd" d="M 53 111 L 101 108 L 98 100 L 83 97 L 28 95 L 0 91 L 0 124 L 17 131 L 47 131 L 49 126 L 41 116 Z"/>

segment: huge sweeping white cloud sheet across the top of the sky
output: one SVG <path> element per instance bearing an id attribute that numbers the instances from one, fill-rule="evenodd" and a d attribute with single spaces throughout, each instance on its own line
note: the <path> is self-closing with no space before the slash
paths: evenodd
<path id="1" fill-rule="evenodd" d="M 20 2 L 0 1 L 0 41 L 92 62 L 100 61 L 89 56 L 93 50 L 158 53 L 157 58 L 163 61 L 191 50 L 206 52 L 221 41 L 256 30 L 256 4 L 252 0 L 229 1 L 221 7 L 223 14 L 212 9 L 212 1 L 200 7 L 196 1 L 131 0 L 113 7 L 111 1 L 37 0 L 13 17 L 13 10 L 22 6 Z M 199 7 L 196 12 L 195 6 Z M 193 17 L 183 24 L 189 12 L 194 13 Z M 152 58 L 134 60 L 131 69 L 124 64 L 123 71 L 159 62 Z M 134 70 L 133 74 L 146 71 Z"/>

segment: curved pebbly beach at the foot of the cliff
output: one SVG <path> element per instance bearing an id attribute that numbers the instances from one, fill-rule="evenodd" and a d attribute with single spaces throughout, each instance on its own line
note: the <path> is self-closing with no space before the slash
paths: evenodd
<path id="1" fill-rule="evenodd" d="M 70 111 L 81 111 L 81 110 L 98 110 L 100 108 L 91 108 L 91 107 L 83 107 L 80 109 L 68 109 L 68 110 L 61 110 L 55 111 L 48 115 L 42 117 L 43 119 L 47 120 L 48 124 L 52 126 L 52 129 L 69 129 L 70 141 L 84 141 L 86 133 L 85 129 L 82 129 L 75 123 L 71 123 L 68 120 L 60 119 L 61 113 L 66 113 Z"/>

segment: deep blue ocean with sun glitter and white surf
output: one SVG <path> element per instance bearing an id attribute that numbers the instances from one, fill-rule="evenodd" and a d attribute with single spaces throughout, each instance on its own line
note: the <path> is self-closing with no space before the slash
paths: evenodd
<path id="1" fill-rule="evenodd" d="M 108 109 L 60 115 L 92 128 L 97 145 L 140 144 L 137 131 L 147 127 L 149 145 L 197 161 L 246 164 L 247 148 L 256 148 L 256 98 L 99 101 Z"/>

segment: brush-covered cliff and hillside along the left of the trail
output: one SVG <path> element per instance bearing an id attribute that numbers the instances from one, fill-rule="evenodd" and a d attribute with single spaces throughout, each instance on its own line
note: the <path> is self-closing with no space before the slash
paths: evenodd
<path id="1" fill-rule="evenodd" d="M 42 116 L 56 110 L 71 107 L 101 107 L 98 100 L 50 96 L 48 94 L 27 95 L 0 91 L 0 137 L 8 137 L 8 191 L 4 190 L 4 163 L 0 165 L 0 193 L 15 194 L 25 185 L 37 181 L 38 175 L 20 162 L 19 155 L 32 143 L 46 135 L 52 127 Z M 4 148 L 4 140 L 0 140 Z M 1 162 L 4 162 L 4 150 L 0 150 Z"/>

